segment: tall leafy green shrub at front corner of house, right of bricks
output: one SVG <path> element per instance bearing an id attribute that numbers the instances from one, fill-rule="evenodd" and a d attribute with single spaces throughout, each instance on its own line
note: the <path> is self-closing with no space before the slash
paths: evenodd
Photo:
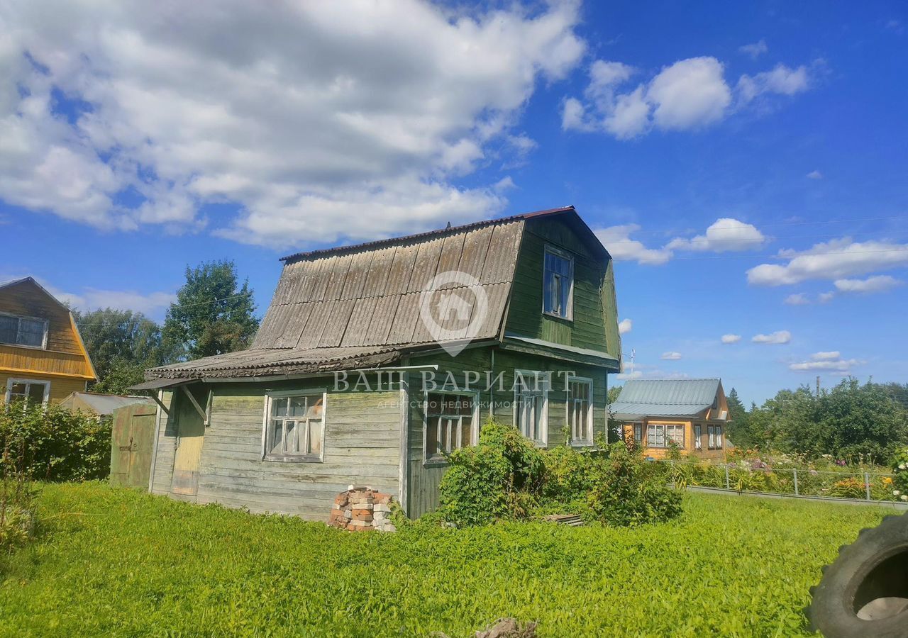
<path id="1" fill-rule="evenodd" d="M 542 454 L 514 427 L 489 420 L 479 445 L 449 456 L 439 486 L 440 511 L 457 525 L 488 525 L 522 518 L 535 505 L 545 466 Z"/>

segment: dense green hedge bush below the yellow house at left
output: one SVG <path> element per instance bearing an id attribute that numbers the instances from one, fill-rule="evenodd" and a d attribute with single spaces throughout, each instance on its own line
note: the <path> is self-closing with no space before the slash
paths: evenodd
<path id="1" fill-rule="evenodd" d="M 84 481 L 110 472 L 111 423 L 62 407 L 0 407 L 0 447 L 27 476 L 44 481 Z"/>

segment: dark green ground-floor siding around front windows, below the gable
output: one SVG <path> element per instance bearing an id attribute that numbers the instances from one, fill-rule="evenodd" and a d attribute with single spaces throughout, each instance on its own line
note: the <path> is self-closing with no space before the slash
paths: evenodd
<path id="1" fill-rule="evenodd" d="M 492 353 L 494 351 L 494 366 Z M 539 370 L 552 372 L 552 388 L 548 392 L 548 447 L 555 447 L 565 443 L 565 426 L 568 418 L 567 391 L 565 377 L 558 372 L 572 371 L 577 377 L 593 379 L 593 432 L 594 436 L 605 435 L 607 429 L 606 412 L 606 371 L 595 366 L 560 361 L 557 358 L 546 358 L 536 355 L 512 352 L 498 347 L 468 348 L 457 357 L 447 354 L 432 355 L 425 358 L 412 358 L 413 365 L 433 363 L 439 365 L 435 373 L 439 386 L 444 382 L 448 372 L 454 375 L 459 387 L 466 383 L 466 373 L 469 370 L 479 372 L 481 381 L 473 384 L 480 391 L 480 424 L 488 417 L 494 417 L 501 423 L 514 424 L 514 370 Z M 489 393 L 486 391 L 486 371 L 492 372 L 492 377 L 504 373 L 501 387 L 498 385 Z M 421 372 L 410 373 L 410 406 L 408 409 L 408 486 L 409 502 L 407 514 L 418 517 L 430 512 L 439 505 L 438 486 L 441 477 L 447 471 L 447 466 L 435 464 L 426 465 L 423 462 L 423 427 L 425 395 L 424 376 Z"/>

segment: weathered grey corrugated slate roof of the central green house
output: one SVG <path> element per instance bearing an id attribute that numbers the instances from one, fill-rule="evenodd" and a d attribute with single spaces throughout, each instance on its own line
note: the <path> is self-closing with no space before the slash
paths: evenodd
<path id="1" fill-rule="evenodd" d="M 404 352 L 464 339 L 464 322 L 474 319 L 472 341 L 498 339 L 525 221 L 560 214 L 608 258 L 573 206 L 298 252 L 281 259 L 281 280 L 251 348 L 153 368 L 145 377 L 258 377 L 387 365 Z M 433 278 L 452 270 L 469 275 L 485 293 L 481 321 L 466 283 L 433 290 Z M 442 318 L 440 327 L 450 331 L 443 339 L 420 319 L 424 293 Z"/>

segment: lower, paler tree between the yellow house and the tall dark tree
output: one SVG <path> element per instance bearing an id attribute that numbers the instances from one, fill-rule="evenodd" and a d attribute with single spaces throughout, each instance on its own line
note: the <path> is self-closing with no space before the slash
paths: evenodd
<path id="1" fill-rule="evenodd" d="M 74 312 L 85 349 L 100 380 L 95 392 L 123 394 L 143 379 L 143 371 L 167 363 L 161 328 L 141 312 L 97 309 Z"/>

